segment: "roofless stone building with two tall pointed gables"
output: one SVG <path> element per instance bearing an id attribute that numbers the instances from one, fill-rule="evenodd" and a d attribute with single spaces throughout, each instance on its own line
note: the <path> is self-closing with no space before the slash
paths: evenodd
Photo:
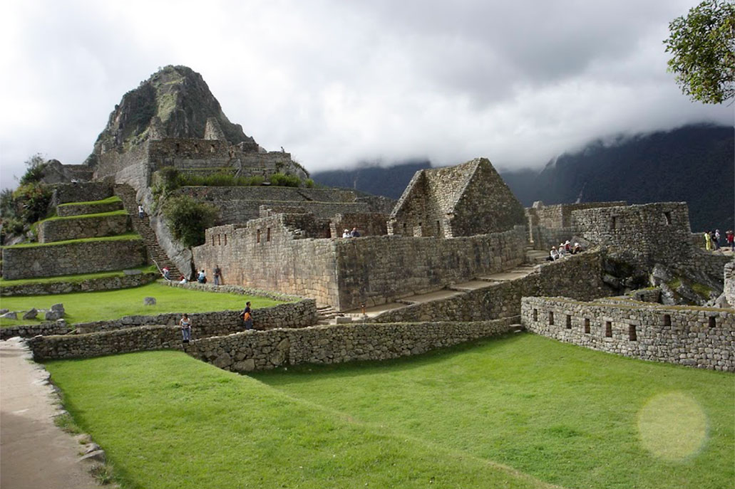
<path id="1" fill-rule="evenodd" d="M 390 214 L 388 234 L 453 238 L 524 225 L 523 206 L 487 158 L 420 170 Z"/>

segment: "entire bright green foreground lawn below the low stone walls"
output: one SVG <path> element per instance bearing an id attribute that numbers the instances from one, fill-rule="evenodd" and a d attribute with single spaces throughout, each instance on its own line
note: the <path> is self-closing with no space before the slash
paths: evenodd
<path id="1" fill-rule="evenodd" d="M 251 377 L 176 352 L 48 368 L 125 488 L 721 489 L 735 480 L 732 374 L 531 334 Z"/>

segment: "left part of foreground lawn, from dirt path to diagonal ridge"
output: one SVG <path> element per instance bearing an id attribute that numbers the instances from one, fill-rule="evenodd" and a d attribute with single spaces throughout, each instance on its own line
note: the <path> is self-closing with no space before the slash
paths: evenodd
<path id="1" fill-rule="evenodd" d="M 126 489 L 549 487 L 181 352 L 47 368 Z"/>

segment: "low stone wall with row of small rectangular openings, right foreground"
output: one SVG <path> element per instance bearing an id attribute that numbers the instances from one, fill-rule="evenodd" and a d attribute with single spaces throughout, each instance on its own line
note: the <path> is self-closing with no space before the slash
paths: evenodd
<path id="1" fill-rule="evenodd" d="M 735 372 L 733 309 L 524 297 L 521 320 L 534 333 L 582 347 L 642 360 Z"/>

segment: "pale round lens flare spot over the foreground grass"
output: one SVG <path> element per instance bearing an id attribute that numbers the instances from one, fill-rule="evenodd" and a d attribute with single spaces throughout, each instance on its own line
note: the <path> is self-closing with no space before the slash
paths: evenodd
<path id="1" fill-rule="evenodd" d="M 659 394 L 638 413 L 643 447 L 655 457 L 685 460 L 707 440 L 707 416 L 692 396 L 682 392 Z"/>

